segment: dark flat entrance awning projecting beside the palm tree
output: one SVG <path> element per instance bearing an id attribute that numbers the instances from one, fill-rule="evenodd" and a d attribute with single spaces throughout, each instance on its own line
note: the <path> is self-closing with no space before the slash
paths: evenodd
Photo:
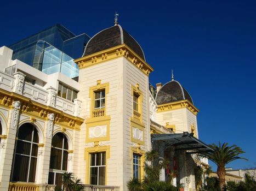
<path id="1" fill-rule="evenodd" d="M 175 151 L 185 150 L 187 153 L 213 152 L 214 150 L 202 141 L 196 139 L 189 132 L 174 134 L 152 134 L 153 145 L 163 145 L 165 148 L 174 146 Z"/>

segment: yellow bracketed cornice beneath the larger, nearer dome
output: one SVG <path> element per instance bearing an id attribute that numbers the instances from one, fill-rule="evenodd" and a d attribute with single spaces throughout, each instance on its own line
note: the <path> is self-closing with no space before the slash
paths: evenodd
<path id="1" fill-rule="evenodd" d="M 75 59 L 75 63 L 78 64 L 79 69 L 90 67 L 92 65 L 100 64 L 111 59 L 118 57 L 125 57 L 133 63 L 138 69 L 140 69 L 144 74 L 149 75 L 153 68 L 146 63 L 142 58 L 140 58 L 129 46 L 126 44 L 111 47 L 100 52 L 93 53 L 92 55 L 84 56 Z"/>

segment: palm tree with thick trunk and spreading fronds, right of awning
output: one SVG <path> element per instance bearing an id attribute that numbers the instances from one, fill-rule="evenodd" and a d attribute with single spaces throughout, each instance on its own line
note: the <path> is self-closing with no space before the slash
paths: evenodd
<path id="1" fill-rule="evenodd" d="M 214 152 L 204 153 L 203 155 L 218 166 L 217 175 L 219 177 L 220 190 L 224 190 L 226 176 L 225 165 L 233 160 L 247 159 L 238 157 L 240 154 L 244 153 L 244 151 L 236 145 L 227 146 L 226 142 L 224 142 L 224 144 L 219 142 L 219 145 L 211 144 L 209 146 L 213 148 Z"/>

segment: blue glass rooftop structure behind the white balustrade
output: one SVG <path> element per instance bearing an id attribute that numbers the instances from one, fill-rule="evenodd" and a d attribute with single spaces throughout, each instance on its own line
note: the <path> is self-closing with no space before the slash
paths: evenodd
<path id="1" fill-rule="evenodd" d="M 75 35 L 57 24 L 9 46 L 13 58 L 45 74 L 60 72 L 71 78 L 78 76 L 78 65 L 73 59 L 83 54 L 89 41 L 87 34 Z"/>

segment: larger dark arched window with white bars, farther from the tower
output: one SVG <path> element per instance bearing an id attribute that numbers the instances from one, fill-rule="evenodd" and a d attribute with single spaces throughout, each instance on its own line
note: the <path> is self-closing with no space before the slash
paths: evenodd
<path id="1" fill-rule="evenodd" d="M 35 182 L 37 144 L 36 128 L 30 123 L 22 124 L 14 152 L 12 181 Z"/>

